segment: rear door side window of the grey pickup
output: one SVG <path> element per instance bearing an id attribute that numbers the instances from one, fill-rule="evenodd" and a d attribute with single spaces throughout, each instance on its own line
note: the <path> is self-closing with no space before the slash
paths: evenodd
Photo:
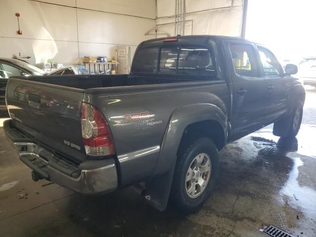
<path id="1" fill-rule="evenodd" d="M 232 60 L 235 73 L 243 77 L 258 77 L 258 67 L 250 44 L 231 44 L 230 45 Z"/>

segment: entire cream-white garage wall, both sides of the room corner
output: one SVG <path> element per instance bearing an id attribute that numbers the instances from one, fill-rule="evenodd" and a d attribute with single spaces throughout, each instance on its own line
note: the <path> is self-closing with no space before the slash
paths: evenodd
<path id="1" fill-rule="evenodd" d="M 185 35 L 240 36 L 243 0 L 186 0 Z M 16 32 L 19 12 L 23 35 Z M 157 19 L 156 19 L 157 14 Z M 77 64 L 86 55 L 115 56 L 115 45 L 174 35 L 175 0 L 0 0 L 0 56 Z M 3 24 L 5 23 L 5 24 Z"/>

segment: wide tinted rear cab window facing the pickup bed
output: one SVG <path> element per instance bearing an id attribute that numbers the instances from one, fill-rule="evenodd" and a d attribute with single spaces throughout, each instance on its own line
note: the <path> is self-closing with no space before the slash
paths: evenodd
<path id="1" fill-rule="evenodd" d="M 173 44 L 139 49 L 134 57 L 132 72 L 192 76 L 200 80 L 215 78 L 216 66 L 210 48 Z"/>

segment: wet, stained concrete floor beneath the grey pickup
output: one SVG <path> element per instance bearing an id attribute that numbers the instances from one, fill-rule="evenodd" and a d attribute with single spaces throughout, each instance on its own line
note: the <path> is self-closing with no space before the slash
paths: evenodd
<path id="1" fill-rule="evenodd" d="M 273 136 L 270 125 L 227 145 L 213 195 L 187 216 L 154 210 L 132 188 L 86 197 L 33 182 L 0 127 L 0 236 L 261 237 L 274 225 L 316 237 L 315 101 L 310 91 L 297 140 Z"/>

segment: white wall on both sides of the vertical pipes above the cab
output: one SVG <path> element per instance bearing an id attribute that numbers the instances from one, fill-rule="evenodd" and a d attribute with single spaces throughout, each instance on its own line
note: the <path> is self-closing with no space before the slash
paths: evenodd
<path id="1" fill-rule="evenodd" d="M 185 0 L 185 2 L 185 35 L 241 36 L 243 0 Z M 175 0 L 157 0 L 158 33 L 166 32 L 171 36 L 174 35 L 174 15 Z"/>

